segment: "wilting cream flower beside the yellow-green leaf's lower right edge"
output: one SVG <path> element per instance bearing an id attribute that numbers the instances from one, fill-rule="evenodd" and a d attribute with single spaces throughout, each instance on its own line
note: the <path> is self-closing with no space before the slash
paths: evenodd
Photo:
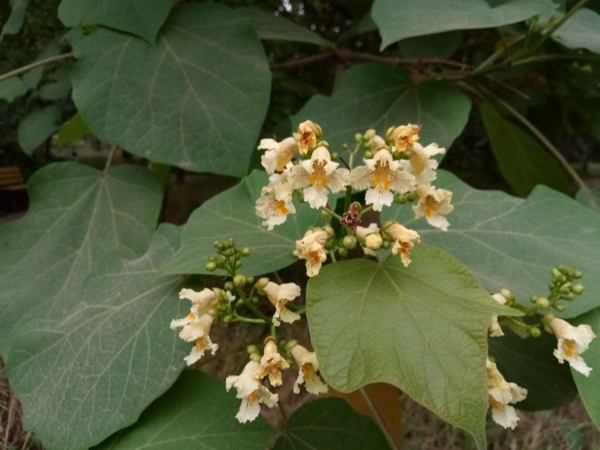
<path id="1" fill-rule="evenodd" d="M 486 363 L 488 377 L 488 399 L 492 409 L 492 419 L 504 428 L 514 429 L 519 417 L 511 403 L 525 400 L 527 389 L 516 383 L 507 383 L 496 364 L 489 359 Z"/>

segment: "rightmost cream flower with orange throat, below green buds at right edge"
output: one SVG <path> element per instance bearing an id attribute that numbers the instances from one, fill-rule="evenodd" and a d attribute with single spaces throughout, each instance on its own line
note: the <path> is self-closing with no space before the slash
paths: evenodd
<path id="1" fill-rule="evenodd" d="M 554 350 L 558 362 L 563 364 L 566 360 L 577 372 L 589 377 L 592 368 L 585 363 L 581 354 L 596 337 L 592 327 L 589 325 L 574 327 L 569 322 L 557 318 L 552 319 L 548 326 L 558 339 L 558 347 Z"/>

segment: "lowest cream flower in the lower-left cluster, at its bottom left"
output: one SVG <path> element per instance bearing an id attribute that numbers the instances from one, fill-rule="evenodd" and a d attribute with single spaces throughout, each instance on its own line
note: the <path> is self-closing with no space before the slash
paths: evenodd
<path id="1" fill-rule="evenodd" d="M 250 361 L 240 375 L 230 375 L 225 380 L 227 391 L 232 387 L 237 390 L 237 398 L 242 399 L 240 409 L 235 418 L 240 423 L 252 422 L 260 414 L 260 404 L 272 408 L 279 401 L 279 396 L 264 387 L 254 376 L 260 364 Z"/>

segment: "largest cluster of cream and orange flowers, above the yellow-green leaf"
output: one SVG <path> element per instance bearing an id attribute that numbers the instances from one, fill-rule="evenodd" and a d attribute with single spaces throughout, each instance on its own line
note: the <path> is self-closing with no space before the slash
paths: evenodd
<path id="1" fill-rule="evenodd" d="M 419 141 L 421 126 L 390 127 L 385 138 L 375 130 L 357 134 L 356 147 L 345 146 L 348 161 L 330 153 L 319 125 L 306 121 L 298 126 L 293 137 L 281 142 L 263 139 L 258 146 L 265 150 L 262 165 L 270 175 L 269 184 L 262 189 L 256 202 L 256 213 L 269 230 L 283 224 L 296 212 L 294 197 L 321 210 L 324 217 L 335 217 L 345 226 L 339 256 L 357 244 L 365 254 L 374 256 L 380 248 L 390 248 L 408 266 L 410 250 L 420 243 L 419 234 L 400 223 L 386 222 L 383 226 L 362 225 L 362 216 L 369 210 L 380 212 L 392 203 L 415 202 L 412 210 L 416 219 L 425 218 L 436 228 L 446 231 L 450 226 L 446 216 L 454 210 L 452 192 L 437 189 L 438 162 L 433 158 L 445 153 L 437 144 L 423 147 Z M 363 165 L 354 167 L 354 158 L 363 153 Z M 349 203 L 353 189 L 365 191 L 364 204 Z M 330 207 L 330 199 L 345 191 L 346 204 L 341 215 Z M 328 255 L 335 258 L 333 229 L 325 225 L 310 228 L 297 241 L 295 255 L 306 261 L 309 277 L 315 276 Z M 334 249 L 332 251 L 332 249 Z"/>

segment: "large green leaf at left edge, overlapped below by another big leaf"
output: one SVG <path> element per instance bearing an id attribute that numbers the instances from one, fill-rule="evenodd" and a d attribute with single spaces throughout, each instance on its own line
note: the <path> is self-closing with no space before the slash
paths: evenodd
<path id="1" fill-rule="evenodd" d="M 0 226 L 3 352 L 15 326 L 60 319 L 83 300 L 77 293 L 106 252 L 144 252 L 162 203 L 158 181 L 134 166 L 104 175 L 52 164 L 30 178 L 29 196 L 27 214 Z"/>

